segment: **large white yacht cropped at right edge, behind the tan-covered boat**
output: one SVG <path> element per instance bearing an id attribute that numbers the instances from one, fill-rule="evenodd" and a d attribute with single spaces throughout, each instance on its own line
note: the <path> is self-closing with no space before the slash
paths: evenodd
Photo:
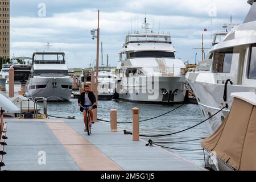
<path id="1" fill-rule="evenodd" d="M 256 3 L 255 0 L 248 3 L 252 6 L 244 22 L 210 49 L 213 53 L 210 71 L 186 75 L 205 118 L 227 106 L 207 122 L 210 134 L 230 111 L 233 102 L 230 94 L 254 92 L 256 88 Z"/>

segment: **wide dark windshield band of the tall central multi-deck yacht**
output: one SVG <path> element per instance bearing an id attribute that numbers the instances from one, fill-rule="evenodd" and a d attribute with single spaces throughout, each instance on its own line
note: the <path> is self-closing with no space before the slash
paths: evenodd
<path id="1" fill-rule="evenodd" d="M 170 57 L 175 58 L 174 52 L 160 52 L 160 51 L 142 51 L 131 52 L 128 58 L 133 57 Z"/>

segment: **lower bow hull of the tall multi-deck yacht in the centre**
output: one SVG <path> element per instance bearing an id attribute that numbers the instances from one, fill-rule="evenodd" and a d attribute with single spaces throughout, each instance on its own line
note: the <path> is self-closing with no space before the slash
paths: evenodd
<path id="1" fill-rule="evenodd" d="M 117 88 L 119 90 L 119 98 L 131 102 L 155 104 L 184 102 L 183 77 L 147 77 L 147 82 L 142 84 L 138 80 L 143 80 L 143 78 L 134 78 L 135 81 L 129 82 L 129 84 L 125 84 L 125 80 L 119 82 L 119 88 Z"/>

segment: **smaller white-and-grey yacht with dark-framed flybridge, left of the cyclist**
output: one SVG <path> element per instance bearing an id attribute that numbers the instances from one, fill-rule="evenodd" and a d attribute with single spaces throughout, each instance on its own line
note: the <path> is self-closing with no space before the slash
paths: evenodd
<path id="1" fill-rule="evenodd" d="M 69 101 L 73 80 L 68 76 L 64 52 L 35 52 L 26 96 L 48 101 Z"/>

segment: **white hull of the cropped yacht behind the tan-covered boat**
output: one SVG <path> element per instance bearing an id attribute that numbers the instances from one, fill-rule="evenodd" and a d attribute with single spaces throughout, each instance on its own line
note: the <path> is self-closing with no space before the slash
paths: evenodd
<path id="1" fill-rule="evenodd" d="M 224 84 L 210 84 L 206 82 L 191 81 L 187 79 L 193 92 L 195 93 L 196 100 L 200 107 L 201 113 L 204 118 L 207 119 L 211 115 L 217 113 L 222 108 L 224 96 Z M 255 88 L 242 85 L 228 85 L 227 86 L 227 104 L 228 109 L 222 110 L 220 113 L 210 118 L 206 123 L 207 129 L 210 134 L 218 129 L 221 123 L 224 121 L 226 115 L 232 107 L 233 97 L 230 94 L 233 92 L 254 92 Z"/>

